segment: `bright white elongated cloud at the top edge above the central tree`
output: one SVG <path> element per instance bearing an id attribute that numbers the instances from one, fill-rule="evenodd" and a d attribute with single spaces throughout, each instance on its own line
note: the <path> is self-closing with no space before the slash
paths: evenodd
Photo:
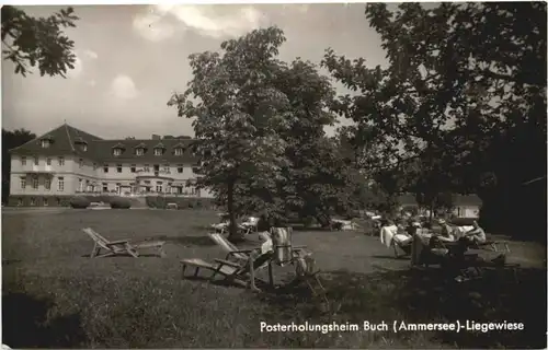
<path id="1" fill-rule="evenodd" d="M 264 15 L 253 7 L 236 5 L 186 5 L 163 3 L 152 5 L 145 15 L 134 20 L 136 28 L 145 38 L 162 40 L 171 37 L 175 30 L 169 21 L 175 20 L 181 30 L 193 30 L 214 38 L 236 37 L 261 26 Z M 150 33 L 152 28 L 158 33 Z"/>

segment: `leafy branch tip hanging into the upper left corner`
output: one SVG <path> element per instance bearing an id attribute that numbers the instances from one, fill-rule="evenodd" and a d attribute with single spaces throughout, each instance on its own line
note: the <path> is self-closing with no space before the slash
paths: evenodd
<path id="1" fill-rule="evenodd" d="M 30 67 L 38 68 L 41 75 L 61 75 L 75 68 L 75 42 L 64 33 L 75 27 L 78 20 L 72 8 L 60 10 L 48 18 L 33 18 L 24 11 L 2 7 L 2 58 L 15 65 L 15 73 L 23 77 Z M 28 67 L 30 66 L 30 67 Z"/>

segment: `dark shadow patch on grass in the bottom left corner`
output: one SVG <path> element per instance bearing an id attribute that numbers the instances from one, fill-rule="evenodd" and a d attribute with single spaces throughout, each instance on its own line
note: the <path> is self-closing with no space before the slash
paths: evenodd
<path id="1" fill-rule="evenodd" d="M 48 299 L 25 293 L 2 295 L 2 342 L 13 349 L 79 348 L 87 342 L 78 313 L 50 318 Z"/>

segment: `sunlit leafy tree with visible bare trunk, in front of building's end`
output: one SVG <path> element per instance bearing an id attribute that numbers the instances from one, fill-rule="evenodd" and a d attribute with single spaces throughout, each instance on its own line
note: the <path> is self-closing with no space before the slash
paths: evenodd
<path id="1" fill-rule="evenodd" d="M 235 191 L 250 185 L 269 194 L 276 189 L 284 165 L 281 129 L 289 127 L 287 96 L 272 83 L 279 72 L 275 59 L 284 43 L 276 27 L 253 31 L 221 44 L 222 54 L 191 55 L 194 78 L 168 105 L 193 118 L 193 152 L 199 160 L 197 187 L 209 187 L 226 199 L 231 241 L 238 241 Z M 266 196 L 263 196 L 263 198 Z M 262 201 L 263 210 L 277 205 Z"/>

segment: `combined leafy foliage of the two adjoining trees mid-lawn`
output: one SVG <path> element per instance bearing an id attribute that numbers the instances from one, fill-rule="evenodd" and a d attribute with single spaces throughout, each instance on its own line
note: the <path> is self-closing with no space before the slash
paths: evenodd
<path id="1" fill-rule="evenodd" d="M 335 121 L 331 82 L 309 61 L 279 61 L 284 42 L 270 27 L 222 43 L 222 54 L 192 55 L 194 79 L 169 102 L 196 118 L 198 186 L 227 205 L 232 228 L 251 213 L 273 224 L 296 214 L 327 225 L 355 205 L 338 141 L 323 131 Z"/>

